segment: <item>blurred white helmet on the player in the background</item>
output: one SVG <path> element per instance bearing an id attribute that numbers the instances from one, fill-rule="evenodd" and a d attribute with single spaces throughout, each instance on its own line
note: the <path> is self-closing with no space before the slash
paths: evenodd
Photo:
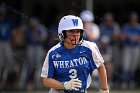
<path id="1" fill-rule="evenodd" d="M 80 18 L 85 22 L 85 21 L 93 21 L 94 16 L 93 13 L 89 10 L 84 10 L 80 13 Z"/>

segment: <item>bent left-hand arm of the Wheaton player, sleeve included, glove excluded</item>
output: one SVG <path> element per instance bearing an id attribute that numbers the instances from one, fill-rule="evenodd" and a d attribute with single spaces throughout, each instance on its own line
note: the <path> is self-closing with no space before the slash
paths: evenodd
<path id="1" fill-rule="evenodd" d="M 64 86 L 61 82 L 53 79 L 54 75 L 54 65 L 51 59 L 50 51 L 48 52 L 41 72 L 41 77 L 45 87 L 54 88 L 54 89 L 64 89 Z"/>

